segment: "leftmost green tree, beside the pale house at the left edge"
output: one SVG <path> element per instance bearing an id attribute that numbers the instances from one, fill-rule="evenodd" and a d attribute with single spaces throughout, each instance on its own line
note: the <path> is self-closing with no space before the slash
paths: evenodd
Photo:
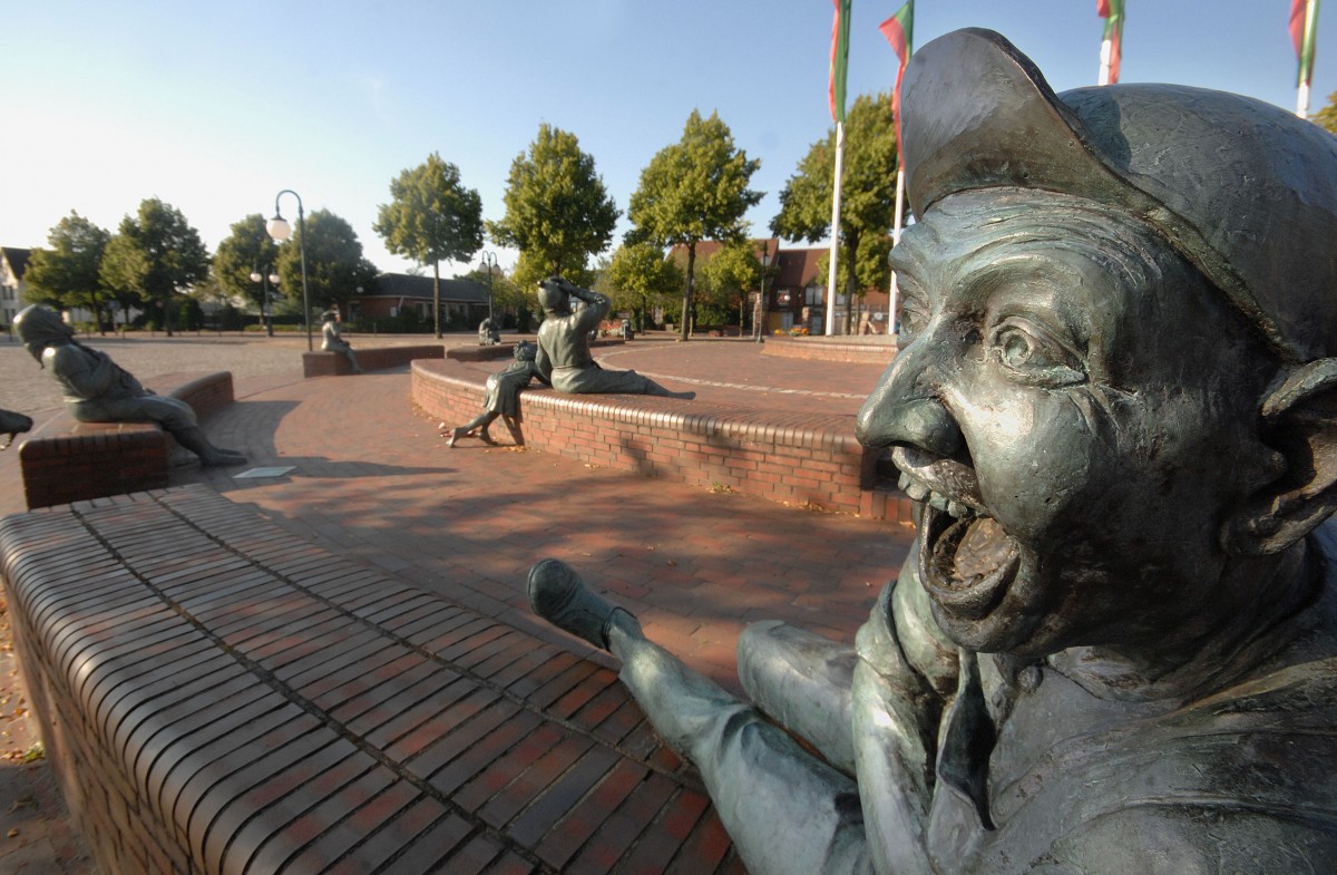
<path id="1" fill-rule="evenodd" d="M 110 294 L 99 277 L 102 256 L 111 233 L 74 210 L 47 235 L 49 249 L 35 249 L 24 274 L 28 301 L 64 309 L 92 310 L 98 325 L 106 324 Z"/>

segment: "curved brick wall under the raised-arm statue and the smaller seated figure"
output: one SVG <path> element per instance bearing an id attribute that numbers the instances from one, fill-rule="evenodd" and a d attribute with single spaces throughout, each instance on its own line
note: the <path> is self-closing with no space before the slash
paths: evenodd
<path id="1" fill-rule="evenodd" d="M 479 415 L 487 372 L 414 361 L 413 401 L 456 424 Z M 881 451 L 854 439 L 854 416 L 758 411 L 644 395 L 520 396 L 525 443 L 588 464 L 662 476 L 873 519 L 910 519 Z"/>

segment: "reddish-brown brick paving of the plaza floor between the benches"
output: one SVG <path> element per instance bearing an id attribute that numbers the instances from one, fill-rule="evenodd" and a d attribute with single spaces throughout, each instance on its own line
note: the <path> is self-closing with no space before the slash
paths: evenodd
<path id="1" fill-rule="evenodd" d="M 187 460 L 174 483 L 207 483 L 274 526 L 606 666 L 615 665 L 610 657 L 531 615 L 524 579 L 537 559 L 576 566 L 635 611 L 651 638 L 738 689 L 734 648 L 743 625 L 782 619 L 850 640 L 910 538 L 896 523 L 713 494 L 540 452 L 472 440 L 449 450 L 439 423 L 409 401 L 406 368 L 302 380 L 305 343 L 294 338 L 88 343 L 148 384 L 158 373 L 233 372 L 237 403 L 206 429 L 251 464 L 201 470 Z M 745 341 L 638 340 L 603 355 L 608 367 L 695 388 L 697 400 L 685 404 L 702 409 L 730 403 L 853 416 L 881 373 L 878 365 L 765 357 Z M 40 431 L 59 403 L 45 385 L 53 381 L 3 341 L 0 375 L 0 407 L 29 413 Z M 0 454 L 0 512 L 23 510 L 16 456 Z M 238 476 L 263 466 L 291 471 Z M 652 804 L 636 793 L 608 804 L 635 817 L 638 805 Z"/>

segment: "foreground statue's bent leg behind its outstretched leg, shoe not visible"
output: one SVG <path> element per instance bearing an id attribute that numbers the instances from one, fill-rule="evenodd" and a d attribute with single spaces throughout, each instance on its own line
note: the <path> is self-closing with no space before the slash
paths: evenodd
<path id="1" fill-rule="evenodd" d="M 854 773 L 850 686 L 854 648 L 778 621 L 753 623 L 738 638 L 738 678 L 767 717 Z"/>

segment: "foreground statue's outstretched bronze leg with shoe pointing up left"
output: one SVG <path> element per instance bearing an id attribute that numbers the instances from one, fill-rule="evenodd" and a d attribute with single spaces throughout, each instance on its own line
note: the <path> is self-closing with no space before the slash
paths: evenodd
<path id="1" fill-rule="evenodd" d="M 533 566 L 529 601 L 541 617 L 622 660 L 623 684 L 660 737 L 701 771 L 749 871 L 873 871 L 850 777 L 647 640 L 635 617 L 586 589 L 568 566 Z"/>

